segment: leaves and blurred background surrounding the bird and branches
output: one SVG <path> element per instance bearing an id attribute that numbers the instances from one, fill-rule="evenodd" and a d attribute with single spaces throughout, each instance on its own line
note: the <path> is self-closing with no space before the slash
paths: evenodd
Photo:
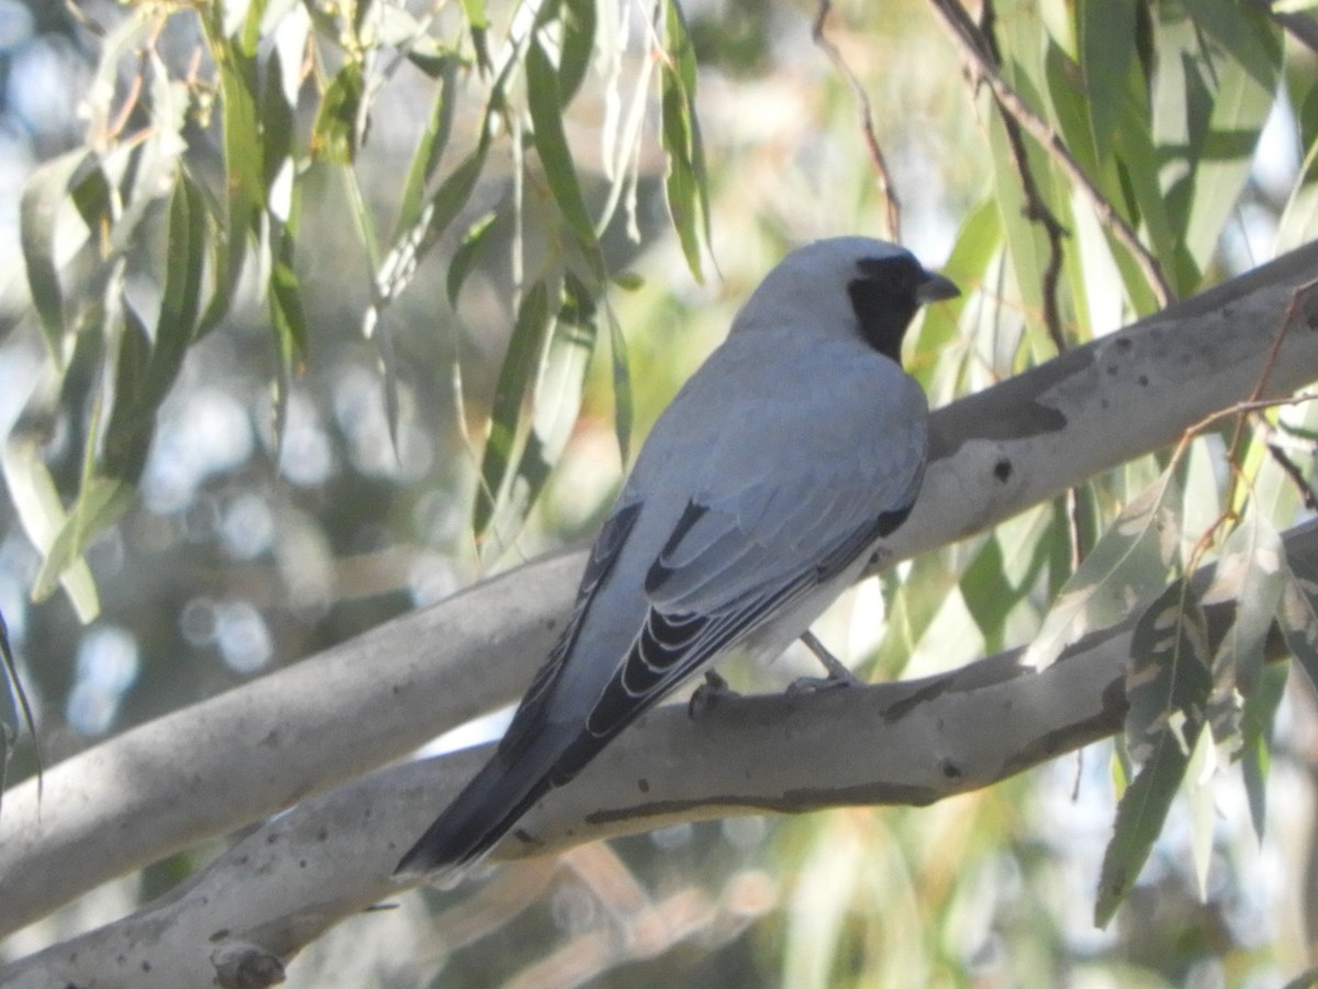
<path id="1" fill-rule="evenodd" d="M 966 289 L 908 345 L 934 405 L 1310 240 L 1311 7 L 0 0 L 0 612 L 43 758 L 590 535 L 804 240 L 899 216 Z M 869 582 L 824 638 L 886 678 L 1029 642 L 1172 477 L 1160 585 L 1224 508 L 1306 516 L 1263 440 L 1307 477 L 1313 418 L 1251 426 L 1243 491 L 1206 433 Z M 776 690 L 803 663 L 729 666 Z M 670 828 L 414 893 L 290 984 L 1281 985 L 1318 934 L 1318 712 L 1264 679 L 1271 764 L 1195 775 L 1103 927 L 1120 741 L 934 807 Z M 9 782 L 36 769 L 14 731 Z"/>

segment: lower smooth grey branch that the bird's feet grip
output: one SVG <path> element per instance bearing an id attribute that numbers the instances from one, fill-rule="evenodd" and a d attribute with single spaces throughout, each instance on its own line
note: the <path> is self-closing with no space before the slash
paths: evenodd
<path id="1" fill-rule="evenodd" d="M 1285 545 L 1293 564 L 1318 568 L 1318 521 Z M 1214 571 L 1195 575 L 1201 593 Z M 1215 651 L 1235 601 L 1205 612 Z M 696 720 L 681 705 L 658 708 L 534 807 L 494 857 L 738 814 L 924 806 L 988 786 L 1120 729 L 1136 621 L 1086 637 L 1043 673 L 1014 649 L 920 680 L 722 699 Z M 1280 633 L 1268 653 L 1284 654 Z M 387 877 L 398 856 L 488 754 L 397 766 L 308 800 L 182 891 L 0 969 L 0 984 L 121 984 L 120 973 L 137 989 L 282 981 L 285 963 L 326 928 L 397 893 Z"/>

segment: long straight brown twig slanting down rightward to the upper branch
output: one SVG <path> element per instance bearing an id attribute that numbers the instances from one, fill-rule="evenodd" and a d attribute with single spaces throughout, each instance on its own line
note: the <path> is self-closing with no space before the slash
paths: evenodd
<path id="1" fill-rule="evenodd" d="M 1081 167 L 1079 162 L 1075 161 L 1074 156 L 1066 149 L 1061 137 L 1002 78 L 990 50 L 986 47 L 983 33 L 978 25 L 970 20 L 957 0 L 929 0 L 929 4 L 952 34 L 952 40 L 961 50 L 966 69 L 975 83 L 988 86 L 1003 115 L 1016 120 L 1053 158 L 1072 183 L 1085 194 L 1099 223 L 1135 258 L 1135 264 L 1143 272 L 1144 280 L 1153 291 L 1159 306 L 1165 309 L 1172 301 L 1173 294 L 1166 278 L 1162 276 L 1162 268 L 1159 265 L 1157 258 L 1140 243 L 1139 236 L 1120 212 L 1118 212 L 1116 207 L 1103 195 L 1102 190 L 1099 190 L 1094 181 L 1085 173 L 1085 169 Z"/>

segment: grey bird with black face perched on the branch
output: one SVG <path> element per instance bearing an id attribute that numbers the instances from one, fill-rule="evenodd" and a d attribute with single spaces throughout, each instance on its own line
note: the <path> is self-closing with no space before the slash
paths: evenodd
<path id="1" fill-rule="evenodd" d="M 397 874 L 451 885 L 697 670 L 809 634 L 915 505 L 929 409 L 902 340 L 958 294 L 863 236 L 764 277 L 652 426 L 497 750 Z"/>

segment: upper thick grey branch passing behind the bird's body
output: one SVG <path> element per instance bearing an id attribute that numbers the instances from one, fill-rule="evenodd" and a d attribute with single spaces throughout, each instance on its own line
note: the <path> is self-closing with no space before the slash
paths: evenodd
<path id="1" fill-rule="evenodd" d="M 940 409 L 920 501 L 874 566 L 983 530 L 1249 397 L 1294 287 L 1315 273 L 1310 244 Z M 1268 394 L 1318 378 L 1310 297 L 1300 316 Z M 40 806 L 34 781 L 13 787 L 0 814 L 0 931 L 514 700 L 552 644 L 581 564 L 580 553 L 535 560 L 125 732 L 49 770 Z M 423 814 L 442 803 L 428 796 Z"/>

